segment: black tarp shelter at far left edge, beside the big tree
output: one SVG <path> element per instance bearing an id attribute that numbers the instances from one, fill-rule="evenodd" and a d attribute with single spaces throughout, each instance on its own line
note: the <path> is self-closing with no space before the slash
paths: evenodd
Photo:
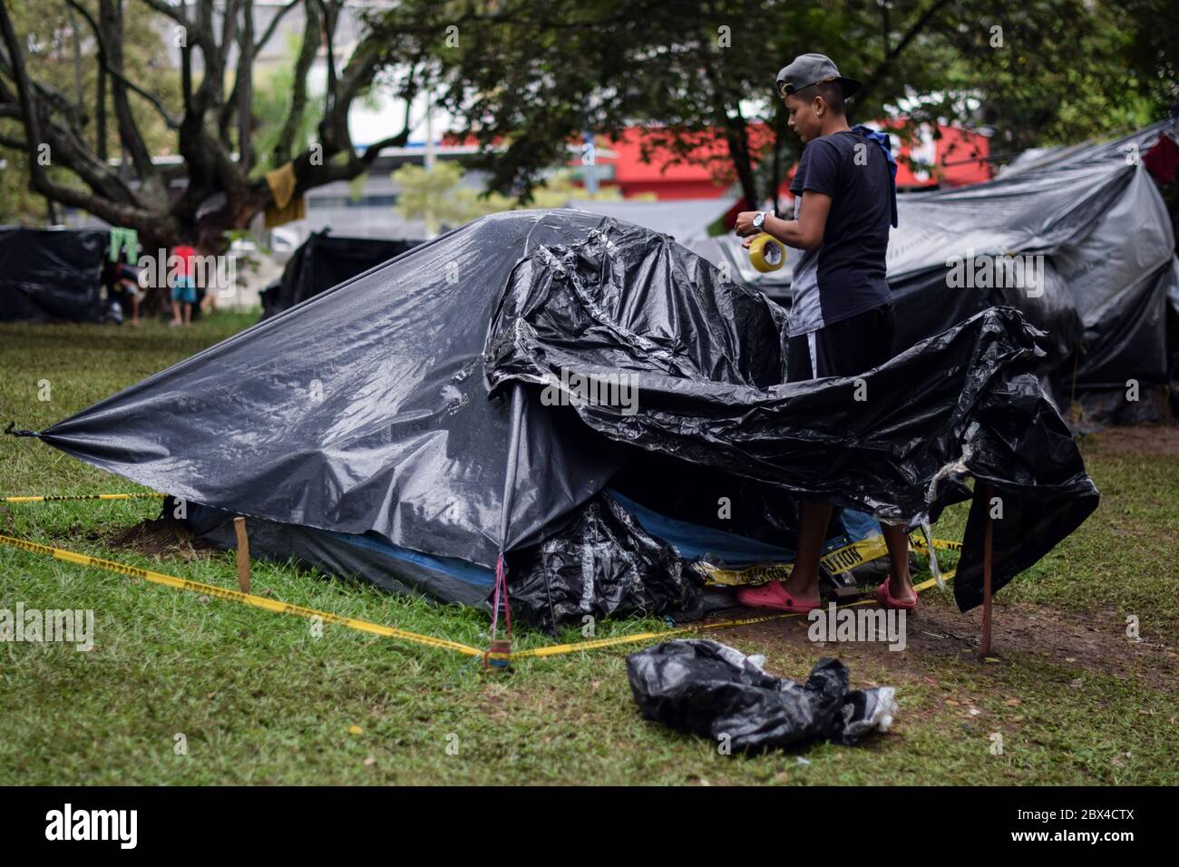
<path id="1" fill-rule="evenodd" d="M 105 229 L 0 226 L 0 321 L 103 321 Z"/>

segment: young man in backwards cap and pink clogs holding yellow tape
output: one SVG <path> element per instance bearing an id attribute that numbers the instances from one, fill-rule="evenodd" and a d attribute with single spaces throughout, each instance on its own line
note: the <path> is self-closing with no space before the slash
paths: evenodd
<path id="1" fill-rule="evenodd" d="M 851 127 L 844 100 L 861 85 L 830 58 L 803 54 L 778 73 L 778 96 L 804 149 L 790 184 L 793 219 L 764 211 L 737 216 L 737 234 L 766 232 L 803 250 L 795 264 L 788 379 L 856 376 L 893 357 L 893 296 L 884 280 L 889 226 L 896 225 L 896 164 L 888 138 Z M 818 561 L 832 507 L 802 501 L 798 550 L 790 577 L 737 597 L 744 605 L 810 611 L 819 605 Z M 882 525 L 891 572 L 876 591 L 885 607 L 911 609 L 909 539 Z"/>

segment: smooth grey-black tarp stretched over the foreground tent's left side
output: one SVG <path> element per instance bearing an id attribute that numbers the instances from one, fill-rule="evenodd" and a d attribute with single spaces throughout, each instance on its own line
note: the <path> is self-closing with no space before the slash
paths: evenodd
<path id="1" fill-rule="evenodd" d="M 157 491 L 288 524 L 376 532 L 494 566 L 606 485 L 621 455 L 577 421 L 489 398 L 488 323 L 516 262 L 604 218 L 486 217 L 259 322 L 44 432 Z M 452 265 L 453 263 L 453 265 Z M 450 267 L 448 267 L 450 265 Z M 457 274 L 457 280 L 452 280 Z M 560 408 L 558 408 L 560 409 Z"/>

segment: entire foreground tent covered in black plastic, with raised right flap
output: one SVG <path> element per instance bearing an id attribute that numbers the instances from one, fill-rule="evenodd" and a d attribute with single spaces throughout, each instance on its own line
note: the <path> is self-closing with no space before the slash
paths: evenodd
<path id="1" fill-rule="evenodd" d="M 973 475 L 1003 498 L 996 589 L 1096 507 L 1030 373 L 1045 337 L 1015 309 L 984 310 L 862 383 L 784 385 L 785 316 L 665 235 L 512 211 L 40 436 L 183 498 L 216 541 L 248 515 L 251 550 L 390 590 L 485 604 L 507 552 L 513 602 L 544 623 L 691 616 L 691 564 L 792 558 L 801 494 L 915 526 L 969 499 Z M 595 401 L 578 379 L 620 374 L 633 403 Z M 962 609 L 981 599 L 982 488 Z"/>

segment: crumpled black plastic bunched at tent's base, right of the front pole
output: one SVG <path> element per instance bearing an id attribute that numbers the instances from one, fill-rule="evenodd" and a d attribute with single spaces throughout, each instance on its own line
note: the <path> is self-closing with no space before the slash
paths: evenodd
<path id="1" fill-rule="evenodd" d="M 606 493 L 509 563 L 512 611 L 548 632 L 587 616 L 697 619 L 703 613 L 700 584 L 676 549 L 644 531 Z"/>

